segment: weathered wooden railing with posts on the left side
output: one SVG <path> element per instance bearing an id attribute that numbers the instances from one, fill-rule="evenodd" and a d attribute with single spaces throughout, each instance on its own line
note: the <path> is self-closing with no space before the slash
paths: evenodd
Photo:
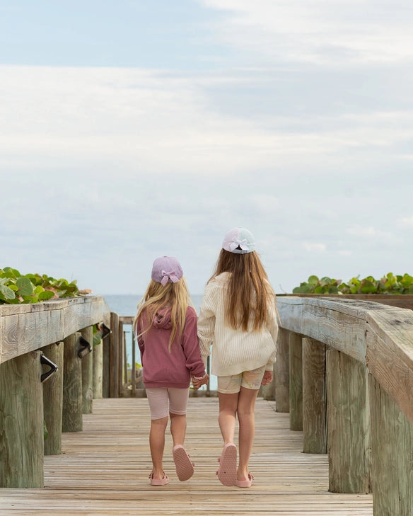
<path id="1" fill-rule="evenodd" d="M 82 430 L 105 386 L 93 325 L 109 321 L 103 297 L 0 306 L 0 487 L 44 486 L 44 454 Z"/>

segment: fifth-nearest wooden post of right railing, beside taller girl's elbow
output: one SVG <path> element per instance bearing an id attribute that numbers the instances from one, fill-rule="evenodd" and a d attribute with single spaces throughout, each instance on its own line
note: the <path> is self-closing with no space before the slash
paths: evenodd
<path id="1" fill-rule="evenodd" d="M 290 332 L 279 328 L 275 362 L 276 412 L 290 411 Z"/>

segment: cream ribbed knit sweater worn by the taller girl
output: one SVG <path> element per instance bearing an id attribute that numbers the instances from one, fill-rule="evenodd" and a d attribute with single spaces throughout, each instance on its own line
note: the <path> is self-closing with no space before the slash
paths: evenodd
<path id="1" fill-rule="evenodd" d="M 224 319 L 226 285 L 229 273 L 216 276 L 206 285 L 198 317 L 198 339 L 202 360 L 211 353 L 211 373 L 230 376 L 265 365 L 272 371 L 277 352 L 277 309 L 269 306 L 267 325 L 262 331 L 234 330 Z"/>

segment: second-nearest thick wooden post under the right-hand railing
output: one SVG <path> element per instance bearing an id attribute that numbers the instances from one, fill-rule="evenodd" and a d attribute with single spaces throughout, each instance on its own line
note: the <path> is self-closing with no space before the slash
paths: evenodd
<path id="1" fill-rule="evenodd" d="M 366 367 L 334 349 L 328 349 L 326 357 L 329 491 L 370 493 Z"/>

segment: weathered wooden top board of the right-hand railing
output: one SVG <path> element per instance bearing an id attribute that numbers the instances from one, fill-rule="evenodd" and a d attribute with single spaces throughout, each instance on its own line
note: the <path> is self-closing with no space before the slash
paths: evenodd
<path id="1" fill-rule="evenodd" d="M 362 362 L 413 424 L 413 311 L 358 299 L 278 297 L 281 327 Z"/>

